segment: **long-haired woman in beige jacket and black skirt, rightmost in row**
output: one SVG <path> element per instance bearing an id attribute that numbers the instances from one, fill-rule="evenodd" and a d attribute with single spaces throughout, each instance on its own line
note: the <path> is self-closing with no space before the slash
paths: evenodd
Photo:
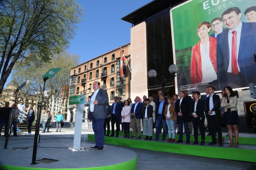
<path id="1" fill-rule="evenodd" d="M 237 97 L 233 92 L 230 86 L 226 86 L 225 90 L 225 97 L 221 100 L 221 107 L 224 108 L 224 119 L 223 122 L 227 125 L 228 134 L 230 137 L 230 147 L 238 147 L 238 128 L 237 125 L 239 124 L 239 117 L 238 117 L 238 108 L 237 106 Z M 236 144 L 234 145 L 233 142 L 233 130 L 235 133 Z"/>

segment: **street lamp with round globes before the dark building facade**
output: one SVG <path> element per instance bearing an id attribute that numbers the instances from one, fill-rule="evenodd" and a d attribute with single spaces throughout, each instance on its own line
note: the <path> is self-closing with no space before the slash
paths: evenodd
<path id="1" fill-rule="evenodd" d="M 177 65 L 175 65 L 175 64 L 170 65 L 169 72 L 171 73 L 172 77 L 176 76 L 175 74 L 177 73 L 177 71 L 178 71 Z M 157 77 L 157 71 L 155 71 L 154 69 L 148 71 L 148 77 L 149 78 L 156 78 Z M 164 87 L 165 87 L 166 83 L 168 83 L 170 81 L 171 81 L 170 79 L 166 79 L 164 77 L 164 74 L 162 74 L 161 82 L 158 81 L 162 85 L 162 93 L 163 93 L 163 95 L 164 95 Z"/>

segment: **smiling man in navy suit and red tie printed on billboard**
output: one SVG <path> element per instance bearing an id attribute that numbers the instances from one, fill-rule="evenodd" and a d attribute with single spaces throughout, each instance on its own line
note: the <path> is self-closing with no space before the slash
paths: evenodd
<path id="1" fill-rule="evenodd" d="M 256 83 L 256 23 L 241 22 L 241 11 L 237 7 L 228 8 L 222 14 L 227 26 L 217 37 L 217 75 L 221 90 L 225 86 L 232 88 L 248 87 Z"/>

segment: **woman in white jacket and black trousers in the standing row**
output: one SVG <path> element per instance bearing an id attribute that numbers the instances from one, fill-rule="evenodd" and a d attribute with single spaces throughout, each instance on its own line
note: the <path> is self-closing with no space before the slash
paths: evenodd
<path id="1" fill-rule="evenodd" d="M 125 136 L 123 138 L 129 138 L 129 125 L 131 122 L 131 107 L 129 106 L 130 102 L 128 100 L 125 100 L 125 106 L 122 108 L 121 116 L 122 116 L 122 123 L 124 124 L 124 130 L 125 130 Z"/>

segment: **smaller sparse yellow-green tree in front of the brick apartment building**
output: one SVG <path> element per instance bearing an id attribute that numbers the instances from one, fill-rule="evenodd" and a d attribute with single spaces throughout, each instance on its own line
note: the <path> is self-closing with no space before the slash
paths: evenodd
<path id="1" fill-rule="evenodd" d="M 79 56 L 70 55 L 66 51 L 53 55 L 50 62 L 47 63 L 38 63 L 33 62 L 30 59 L 24 59 L 17 62 L 17 65 L 13 68 L 12 78 L 19 84 L 29 79 L 30 83 L 25 86 L 26 89 L 29 89 L 26 91 L 27 94 L 38 94 L 38 98 L 41 101 L 41 93 L 44 85 L 42 76 L 51 68 L 61 68 L 54 77 L 46 81 L 45 85 L 45 91 L 47 91 L 47 106 L 49 104 L 49 99 L 51 99 L 51 114 L 53 116 L 55 99 L 60 96 L 62 91 L 64 91 L 64 98 L 68 97 L 70 69 L 76 65 L 79 65 Z M 64 99 L 62 101 L 64 102 Z"/>

